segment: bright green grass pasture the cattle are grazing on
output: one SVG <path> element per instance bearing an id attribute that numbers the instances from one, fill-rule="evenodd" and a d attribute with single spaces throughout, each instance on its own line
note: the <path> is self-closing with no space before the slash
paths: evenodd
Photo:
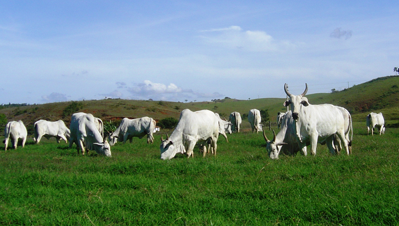
<path id="1" fill-rule="evenodd" d="M 220 136 L 216 157 L 163 161 L 160 136 L 117 143 L 111 158 L 54 138 L 1 150 L 0 225 L 399 225 L 399 128 L 367 136 L 354 122 L 353 155 L 318 145 L 278 160 L 244 132 Z"/>

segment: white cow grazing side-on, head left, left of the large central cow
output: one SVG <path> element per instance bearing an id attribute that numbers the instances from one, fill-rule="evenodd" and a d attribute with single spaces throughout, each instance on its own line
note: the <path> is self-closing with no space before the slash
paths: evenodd
<path id="1" fill-rule="evenodd" d="M 109 136 L 110 144 L 114 145 L 117 141 L 125 143 L 127 140 L 132 142 L 133 137 L 140 139 L 147 135 L 147 143 L 154 143 L 155 120 L 151 117 L 141 117 L 135 119 L 123 118 L 119 127 Z"/>

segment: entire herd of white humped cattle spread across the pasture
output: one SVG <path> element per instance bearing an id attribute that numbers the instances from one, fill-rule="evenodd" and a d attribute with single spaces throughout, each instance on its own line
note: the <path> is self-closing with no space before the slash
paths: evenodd
<path id="1" fill-rule="evenodd" d="M 269 140 L 263 131 L 270 158 L 278 159 L 280 153 L 294 155 L 299 151 L 306 155 L 308 145 L 311 154 L 315 155 L 317 143 L 326 144 L 331 154 L 337 154 L 341 150 L 345 150 L 348 155 L 352 153 L 352 117 L 345 108 L 330 104 L 311 105 L 305 97 L 308 91 L 307 84 L 305 91 L 298 96 L 288 92 L 287 84 L 284 85 L 284 91 L 288 99 L 283 105 L 290 107 L 291 111 L 277 114 L 280 131 L 276 135 L 273 130 L 272 140 Z M 371 128 L 371 133 L 374 135 L 376 127 L 380 135 L 384 134 L 385 121 L 382 113 L 370 113 L 366 119 L 367 134 Z M 219 114 L 208 110 L 192 112 L 185 109 L 181 112 L 178 125 L 171 136 L 167 134 L 166 139 L 161 136 L 161 159 L 171 159 L 177 153 L 194 157 L 196 145 L 202 150 L 203 156 L 209 151 L 216 155 L 219 134 L 222 134 L 228 142 L 226 133 L 240 132 L 241 121 L 238 112 L 231 113 L 229 120 L 225 118 L 223 120 Z M 250 110 L 248 121 L 252 132 L 262 131 L 259 110 Z M 123 118 L 119 127 L 104 137 L 104 125 L 100 118 L 90 113 L 74 113 L 69 128 L 62 120 L 36 121 L 33 139 L 36 144 L 43 136 L 47 139 L 55 137 L 58 143 L 60 139 L 65 142 L 69 139 L 69 148 L 75 143 L 78 154 L 80 152 L 84 155 L 85 151 L 94 150 L 98 154 L 111 156 L 111 146 L 117 141 L 132 142 L 133 137 L 142 138 L 147 135 L 147 143 L 153 143 L 155 125 L 155 120 L 150 117 Z M 4 136 L 5 150 L 9 139 L 14 148 L 17 147 L 18 139 L 22 139 L 23 147 L 27 130 L 22 121 L 10 121 L 5 126 Z"/>

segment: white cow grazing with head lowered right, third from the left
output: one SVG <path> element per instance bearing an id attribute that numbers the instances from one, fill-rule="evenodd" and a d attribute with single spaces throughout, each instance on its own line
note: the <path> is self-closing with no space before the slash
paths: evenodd
<path id="1" fill-rule="evenodd" d="M 111 147 L 107 140 L 104 141 L 101 133 L 96 127 L 96 119 L 90 113 L 72 114 L 70 124 L 71 136 L 69 138 L 69 148 L 76 143 L 76 148 L 84 155 L 85 149 L 95 150 L 98 154 L 111 157 Z"/>

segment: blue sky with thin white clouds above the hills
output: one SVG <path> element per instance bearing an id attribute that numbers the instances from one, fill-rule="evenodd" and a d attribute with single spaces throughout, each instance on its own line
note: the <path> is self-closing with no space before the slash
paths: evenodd
<path id="1" fill-rule="evenodd" d="M 0 104 L 342 90 L 399 67 L 397 1 L 1 0 Z"/>

